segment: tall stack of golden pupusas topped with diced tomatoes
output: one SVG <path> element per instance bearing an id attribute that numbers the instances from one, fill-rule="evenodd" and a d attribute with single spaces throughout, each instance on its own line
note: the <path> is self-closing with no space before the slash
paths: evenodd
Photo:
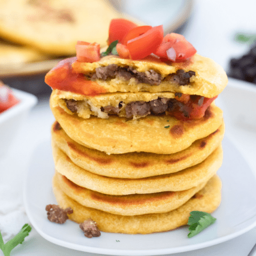
<path id="1" fill-rule="evenodd" d="M 46 75 L 56 119 L 53 190 L 78 223 L 91 218 L 114 233 L 167 231 L 186 225 L 191 211 L 220 204 L 225 127 L 214 99 L 227 76 L 184 37 L 123 22 L 110 23 L 106 52 L 78 42 L 77 58 Z M 127 31 L 115 33 L 118 26 Z"/>

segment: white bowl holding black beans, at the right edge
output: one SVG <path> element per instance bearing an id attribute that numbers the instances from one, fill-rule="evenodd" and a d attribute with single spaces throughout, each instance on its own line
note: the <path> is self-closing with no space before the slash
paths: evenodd
<path id="1" fill-rule="evenodd" d="M 228 125 L 256 132 L 256 84 L 229 78 L 216 104 Z"/>

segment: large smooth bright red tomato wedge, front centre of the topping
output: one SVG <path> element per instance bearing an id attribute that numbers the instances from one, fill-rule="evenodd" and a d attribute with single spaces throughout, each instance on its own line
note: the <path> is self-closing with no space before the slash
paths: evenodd
<path id="1" fill-rule="evenodd" d="M 127 48 L 131 54 L 131 59 L 138 60 L 147 57 L 156 51 L 163 41 L 163 26 L 156 26 L 149 29 L 141 36 L 135 37 L 127 42 Z"/>

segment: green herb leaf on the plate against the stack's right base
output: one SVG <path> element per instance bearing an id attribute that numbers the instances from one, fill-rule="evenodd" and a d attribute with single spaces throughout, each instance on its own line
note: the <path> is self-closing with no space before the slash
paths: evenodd
<path id="1" fill-rule="evenodd" d="M 193 237 L 200 233 L 202 230 L 210 226 L 215 222 L 215 218 L 212 217 L 210 213 L 193 211 L 190 212 L 190 216 L 188 219 L 188 230 L 190 233 L 188 234 L 188 238 Z"/>

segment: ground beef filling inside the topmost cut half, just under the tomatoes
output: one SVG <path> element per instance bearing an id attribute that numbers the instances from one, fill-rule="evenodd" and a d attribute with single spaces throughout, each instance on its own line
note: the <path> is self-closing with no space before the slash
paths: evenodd
<path id="1" fill-rule="evenodd" d="M 185 72 L 184 70 L 179 69 L 176 73 L 169 74 L 165 78 L 162 78 L 161 74 L 153 69 L 146 72 L 139 72 L 133 67 L 119 67 L 116 64 L 111 64 L 106 67 L 96 68 L 95 73 L 87 74 L 86 77 L 91 80 L 102 79 L 104 81 L 116 77 L 125 80 L 135 78 L 138 83 L 146 83 L 149 85 L 159 85 L 162 81 L 169 81 L 178 85 L 186 85 L 189 84 L 190 77 L 195 75 L 196 73 L 194 71 L 190 70 Z"/>

